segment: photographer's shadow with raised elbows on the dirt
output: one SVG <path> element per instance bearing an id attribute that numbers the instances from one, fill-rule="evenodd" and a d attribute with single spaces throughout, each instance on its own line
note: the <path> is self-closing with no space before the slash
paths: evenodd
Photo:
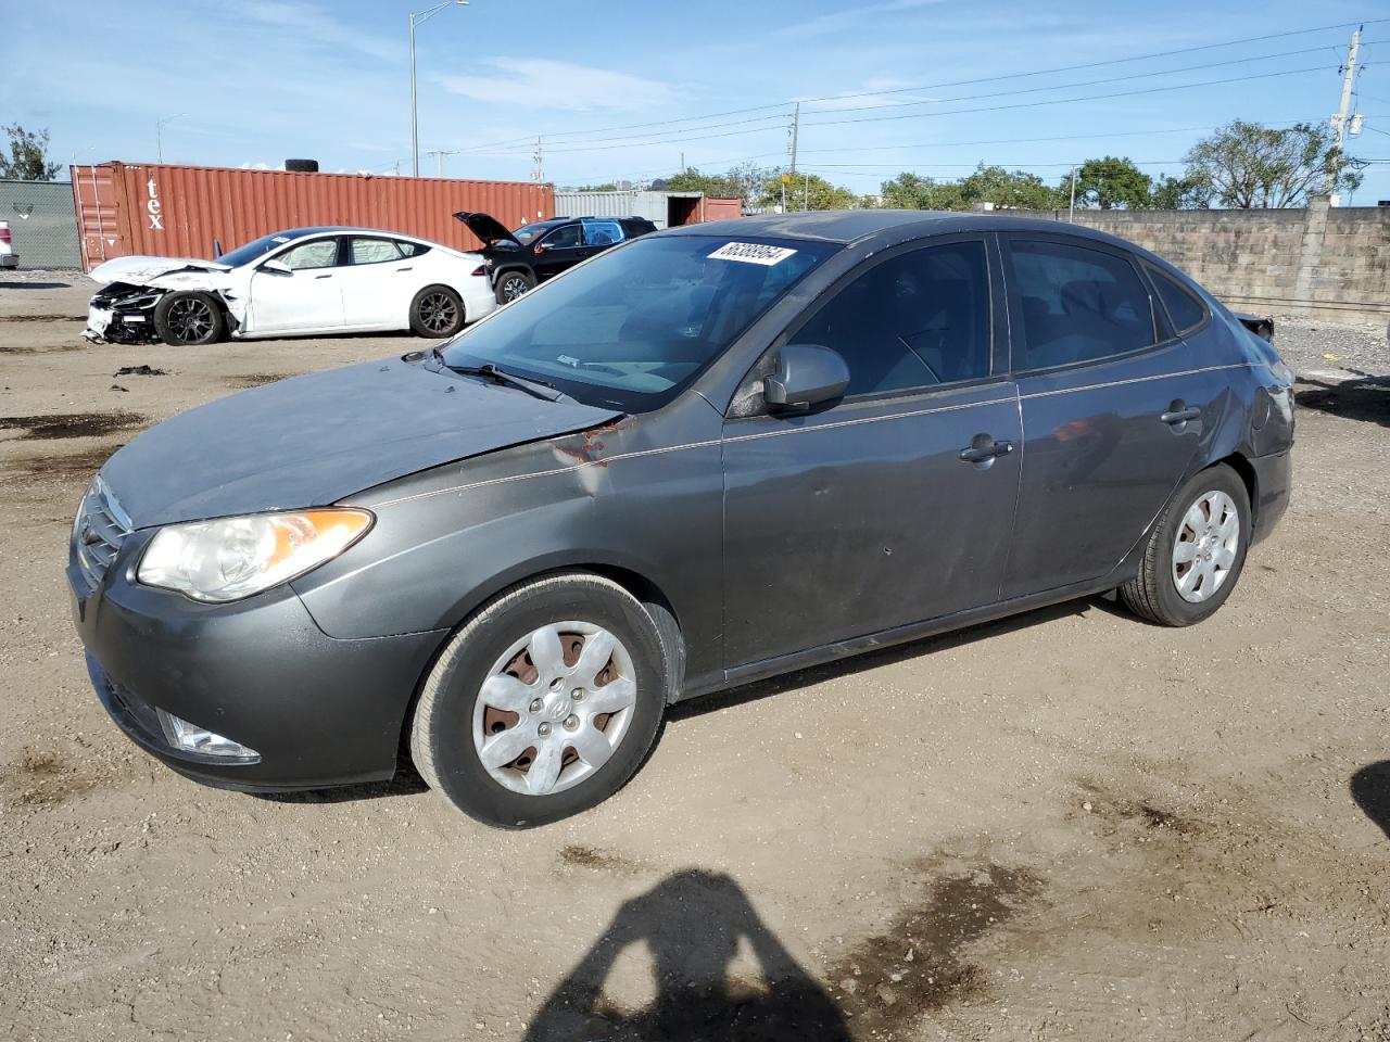
<path id="1" fill-rule="evenodd" d="M 645 945 L 656 998 L 624 1009 L 605 986 L 624 949 Z M 735 975 L 739 954 L 759 974 Z M 676 873 L 619 909 L 603 936 L 531 1021 L 527 1042 L 848 1042 L 830 996 L 767 929 L 730 877 Z"/>

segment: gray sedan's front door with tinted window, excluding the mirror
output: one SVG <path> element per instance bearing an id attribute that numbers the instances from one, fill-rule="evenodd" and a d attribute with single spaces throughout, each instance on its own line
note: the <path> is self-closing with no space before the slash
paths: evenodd
<path id="1" fill-rule="evenodd" d="M 998 599 L 1022 440 L 997 272 L 983 238 L 888 251 L 781 338 L 851 383 L 726 421 L 730 668 Z"/>

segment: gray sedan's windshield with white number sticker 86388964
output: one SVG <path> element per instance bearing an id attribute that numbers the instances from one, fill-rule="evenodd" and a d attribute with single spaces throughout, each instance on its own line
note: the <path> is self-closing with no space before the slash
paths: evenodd
<path id="1" fill-rule="evenodd" d="M 642 238 L 460 333 L 449 365 L 493 363 L 585 404 L 657 408 L 838 246 Z"/>

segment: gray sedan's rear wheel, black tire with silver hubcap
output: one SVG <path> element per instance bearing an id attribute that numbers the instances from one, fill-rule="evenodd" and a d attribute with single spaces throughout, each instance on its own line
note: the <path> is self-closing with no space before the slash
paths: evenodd
<path id="1" fill-rule="evenodd" d="M 1232 514 L 1233 522 L 1220 520 Z M 1240 475 L 1225 464 L 1193 475 L 1154 527 L 1138 575 L 1120 586 L 1120 600 L 1159 625 L 1201 622 L 1240 581 L 1250 532 L 1250 493 Z M 1180 545 L 1191 549 L 1180 550 Z"/>

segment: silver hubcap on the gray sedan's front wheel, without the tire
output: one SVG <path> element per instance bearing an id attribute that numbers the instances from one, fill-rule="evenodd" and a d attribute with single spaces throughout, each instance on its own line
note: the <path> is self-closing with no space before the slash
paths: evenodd
<path id="1" fill-rule="evenodd" d="M 553 622 L 498 656 L 473 707 L 473 747 L 488 775 L 552 796 L 598 771 L 637 710 L 632 656 L 592 622 Z"/>

